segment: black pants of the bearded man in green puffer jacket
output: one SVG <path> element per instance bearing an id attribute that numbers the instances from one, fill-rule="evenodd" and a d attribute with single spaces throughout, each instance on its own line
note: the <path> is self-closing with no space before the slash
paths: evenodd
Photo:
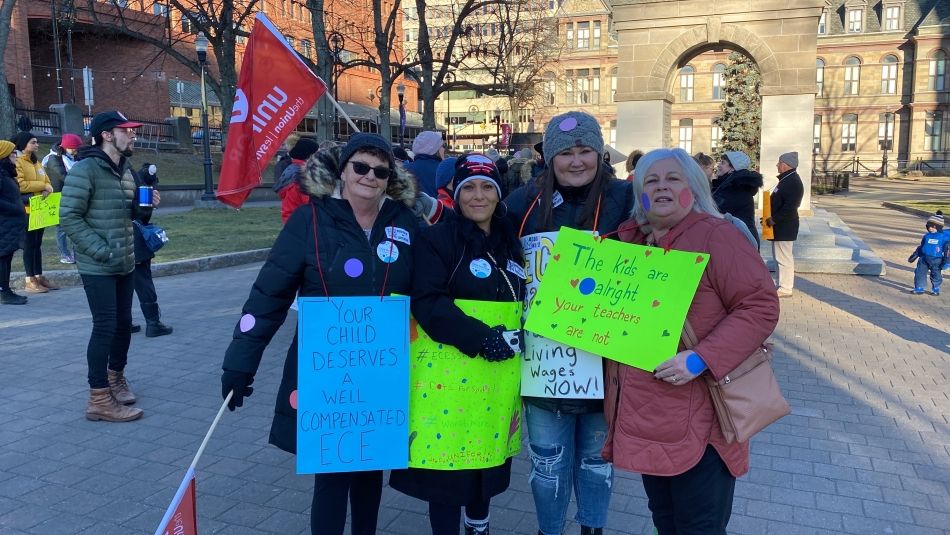
<path id="1" fill-rule="evenodd" d="M 92 335 L 86 348 L 89 388 L 106 388 L 106 368 L 122 371 L 132 339 L 132 274 L 81 275 L 92 312 Z"/>

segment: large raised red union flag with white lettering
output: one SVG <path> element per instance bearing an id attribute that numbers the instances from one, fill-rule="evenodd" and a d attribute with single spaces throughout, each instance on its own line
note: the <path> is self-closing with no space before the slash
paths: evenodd
<path id="1" fill-rule="evenodd" d="M 238 77 L 217 197 L 240 208 L 277 149 L 327 91 L 277 28 L 258 13 Z"/>

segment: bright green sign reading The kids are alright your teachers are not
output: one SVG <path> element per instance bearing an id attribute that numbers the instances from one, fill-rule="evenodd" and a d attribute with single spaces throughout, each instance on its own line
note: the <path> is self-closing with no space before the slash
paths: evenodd
<path id="1" fill-rule="evenodd" d="M 525 329 L 652 371 L 676 354 L 708 262 L 561 228 Z"/>

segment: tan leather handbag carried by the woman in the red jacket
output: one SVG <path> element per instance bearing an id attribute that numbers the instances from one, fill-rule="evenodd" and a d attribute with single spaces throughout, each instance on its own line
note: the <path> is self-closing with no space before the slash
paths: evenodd
<path id="1" fill-rule="evenodd" d="M 699 343 L 689 321 L 683 324 L 682 340 L 686 349 Z M 719 381 L 703 374 L 726 442 L 747 442 L 791 412 L 772 372 L 769 353 L 763 345 Z"/>

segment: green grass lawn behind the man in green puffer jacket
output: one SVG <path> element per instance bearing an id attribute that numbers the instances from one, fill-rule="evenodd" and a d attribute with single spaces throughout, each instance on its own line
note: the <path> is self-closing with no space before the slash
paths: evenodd
<path id="1" fill-rule="evenodd" d="M 152 221 L 164 228 L 169 238 L 155 256 L 156 263 L 270 247 L 283 226 L 276 206 L 240 211 L 195 209 L 157 215 Z M 43 270 L 74 268 L 59 263 L 56 229 L 47 229 L 43 234 Z M 13 255 L 13 271 L 23 271 L 22 251 Z"/>

